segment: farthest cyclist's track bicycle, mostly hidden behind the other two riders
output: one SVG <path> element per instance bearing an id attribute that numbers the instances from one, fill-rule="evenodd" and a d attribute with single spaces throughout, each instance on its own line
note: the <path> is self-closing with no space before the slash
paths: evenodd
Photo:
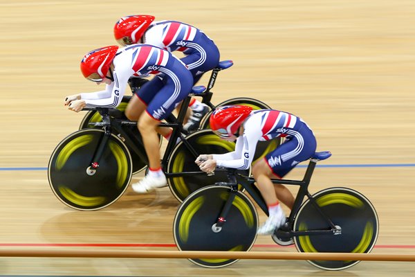
<path id="1" fill-rule="evenodd" d="M 230 66 L 233 65 L 233 62 L 231 60 L 224 60 L 219 62 L 218 66 L 215 69 L 212 69 L 212 73 L 210 75 L 210 79 L 208 81 L 208 87 L 205 89 L 205 91 L 194 93 L 194 96 L 201 97 L 201 102 L 208 105 L 210 107 L 211 111 L 208 112 L 203 118 L 201 119 L 201 125 L 199 126 L 199 129 L 208 129 L 209 128 L 209 117 L 210 114 L 212 114 L 212 111 L 216 109 L 216 107 L 221 107 L 224 105 L 246 105 L 250 106 L 253 109 L 270 109 L 266 103 L 261 102 L 260 100 L 254 99 L 254 98 L 247 98 L 247 97 L 239 97 L 239 98 L 232 98 L 229 100 L 225 100 L 219 105 L 214 105 L 212 103 L 212 96 L 213 91 L 212 88 L 214 87 L 214 84 L 217 80 L 217 76 L 219 74 L 219 71 L 225 70 L 230 68 Z M 147 82 L 147 79 L 143 78 L 131 78 L 129 81 L 129 86 L 131 87 L 131 91 L 136 93 L 140 87 Z M 202 87 L 202 86 L 199 86 Z M 122 98 L 122 102 L 117 107 L 117 109 L 110 110 L 110 116 L 116 116 L 118 118 L 127 120 L 127 117 L 124 115 L 125 108 L 127 107 L 127 104 L 132 96 L 124 96 Z M 102 116 L 100 115 L 99 111 L 91 110 L 86 113 L 84 118 L 82 119 L 80 123 L 79 129 L 86 129 L 90 127 L 97 127 L 102 128 L 101 125 L 94 125 L 93 123 L 99 123 L 102 122 Z M 114 129 L 115 130 L 115 129 Z M 136 133 L 135 136 L 138 136 L 138 130 L 134 129 L 132 132 Z M 185 134 L 185 131 L 182 130 L 183 134 Z M 118 134 L 116 134 L 118 135 Z M 161 138 L 160 138 L 161 139 Z M 275 147 L 277 144 L 274 145 Z M 129 148 L 129 145 L 127 145 Z M 131 149 L 130 149 L 131 150 Z M 136 154 L 135 151 L 131 150 L 131 159 L 133 161 L 133 174 L 136 174 L 140 172 L 141 170 L 144 170 L 147 167 L 147 163 L 145 163 L 145 160 L 140 157 L 140 155 Z"/>

